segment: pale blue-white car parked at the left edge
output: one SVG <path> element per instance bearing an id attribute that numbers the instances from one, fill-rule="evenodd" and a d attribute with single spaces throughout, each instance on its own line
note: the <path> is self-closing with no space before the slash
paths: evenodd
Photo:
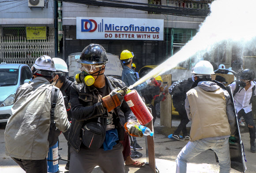
<path id="1" fill-rule="evenodd" d="M 26 64 L 0 64 L 0 123 L 11 116 L 15 92 L 19 85 L 32 81 L 30 67 Z"/>

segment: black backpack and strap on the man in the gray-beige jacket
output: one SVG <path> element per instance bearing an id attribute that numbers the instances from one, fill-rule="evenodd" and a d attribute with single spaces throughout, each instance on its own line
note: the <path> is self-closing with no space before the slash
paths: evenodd
<path id="1" fill-rule="evenodd" d="M 59 96 L 60 90 L 57 88 L 52 88 L 51 95 L 51 116 L 50 116 L 50 131 L 48 135 L 49 147 L 55 145 L 58 141 L 58 136 L 60 135 L 60 130 L 56 128 L 56 123 L 54 121 L 54 109 L 56 107 L 57 99 Z"/>

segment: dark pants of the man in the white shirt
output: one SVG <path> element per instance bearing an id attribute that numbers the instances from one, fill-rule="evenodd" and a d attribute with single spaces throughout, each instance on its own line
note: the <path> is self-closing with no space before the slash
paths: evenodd
<path id="1" fill-rule="evenodd" d="M 241 118 L 241 116 L 244 117 L 245 119 L 245 123 L 249 129 L 249 134 L 250 134 L 250 139 L 251 140 L 255 140 L 256 138 L 256 128 L 255 128 L 255 124 L 253 122 L 253 117 L 252 117 L 252 111 L 248 112 L 247 114 L 245 113 L 245 110 L 244 109 L 241 109 L 239 112 L 238 112 L 238 119 Z M 249 126 L 251 126 L 252 128 L 250 128 Z"/>

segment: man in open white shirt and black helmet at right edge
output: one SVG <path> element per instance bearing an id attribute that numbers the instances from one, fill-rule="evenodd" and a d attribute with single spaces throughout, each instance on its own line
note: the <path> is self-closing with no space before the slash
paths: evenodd
<path id="1" fill-rule="evenodd" d="M 256 128 L 252 117 L 252 95 L 256 95 L 254 72 L 250 69 L 245 69 L 241 72 L 239 83 L 233 82 L 229 86 L 233 91 L 235 106 L 238 113 L 238 118 L 243 116 L 245 123 L 248 126 L 250 134 L 251 152 L 256 152 Z M 237 86 L 238 85 L 238 86 Z"/>

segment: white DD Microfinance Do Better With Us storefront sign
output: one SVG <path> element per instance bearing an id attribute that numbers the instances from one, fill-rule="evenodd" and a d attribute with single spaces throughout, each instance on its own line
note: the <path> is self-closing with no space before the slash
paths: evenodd
<path id="1" fill-rule="evenodd" d="M 76 18 L 77 39 L 163 40 L 164 20 Z"/>

